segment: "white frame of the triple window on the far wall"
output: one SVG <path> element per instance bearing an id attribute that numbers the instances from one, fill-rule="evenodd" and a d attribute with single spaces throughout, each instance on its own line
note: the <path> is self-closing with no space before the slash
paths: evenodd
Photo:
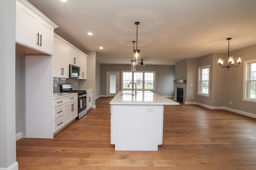
<path id="1" fill-rule="evenodd" d="M 134 81 L 134 73 L 136 72 L 142 72 L 142 89 L 138 89 L 137 90 L 152 90 L 155 91 L 156 90 L 156 71 L 121 71 L 121 90 L 134 90 L 134 84 L 132 83 L 132 88 L 123 88 L 123 74 L 124 72 L 132 72 L 132 81 Z M 145 89 L 145 73 L 154 73 L 154 87 L 153 89 Z"/>

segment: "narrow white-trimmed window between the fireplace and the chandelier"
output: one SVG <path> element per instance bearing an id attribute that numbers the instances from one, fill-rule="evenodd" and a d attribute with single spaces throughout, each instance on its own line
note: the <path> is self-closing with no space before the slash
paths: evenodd
<path id="1" fill-rule="evenodd" d="M 210 65 L 198 67 L 198 95 L 209 97 Z"/>

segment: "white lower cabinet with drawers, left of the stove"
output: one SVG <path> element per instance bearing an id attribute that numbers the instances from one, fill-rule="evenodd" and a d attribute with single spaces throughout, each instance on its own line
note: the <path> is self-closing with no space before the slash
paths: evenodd
<path id="1" fill-rule="evenodd" d="M 74 94 L 54 100 L 54 130 L 56 133 L 78 116 L 78 96 Z"/>

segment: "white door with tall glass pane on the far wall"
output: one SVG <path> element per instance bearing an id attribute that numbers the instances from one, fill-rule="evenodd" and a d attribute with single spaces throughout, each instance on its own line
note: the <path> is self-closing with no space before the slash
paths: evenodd
<path id="1" fill-rule="evenodd" d="M 119 72 L 107 72 L 107 96 L 114 97 L 119 92 Z"/>

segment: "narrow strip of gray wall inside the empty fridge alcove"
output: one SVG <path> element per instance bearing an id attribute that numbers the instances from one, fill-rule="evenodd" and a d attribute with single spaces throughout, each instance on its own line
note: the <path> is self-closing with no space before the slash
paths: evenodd
<path id="1" fill-rule="evenodd" d="M 16 54 L 16 134 L 26 136 L 26 57 Z"/>

